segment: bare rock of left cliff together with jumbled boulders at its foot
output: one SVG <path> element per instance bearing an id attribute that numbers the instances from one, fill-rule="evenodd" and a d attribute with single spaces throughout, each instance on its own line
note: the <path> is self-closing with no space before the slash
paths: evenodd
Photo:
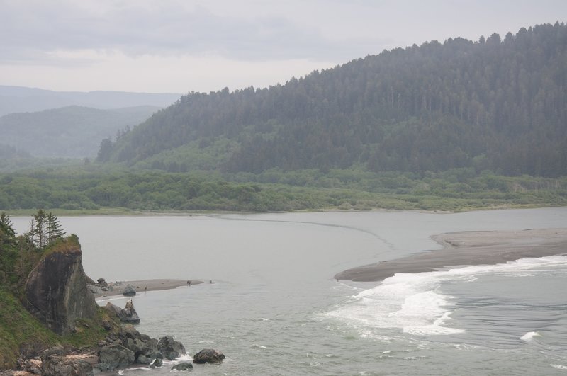
<path id="1" fill-rule="evenodd" d="M 69 346 L 69 343 L 47 349 L 45 343 L 24 343 L 19 348 L 21 357 L 16 363 L 19 371 L 53 376 L 88 376 L 134 363 L 156 368 L 162 366 L 163 358 L 174 360 L 186 353 L 183 344 L 172 336 L 164 336 L 158 341 L 136 331 L 130 323 L 137 323 L 140 318 L 132 300 L 124 309 L 108 303 L 106 309 L 111 314 L 99 312 L 101 308 L 87 283 L 98 285 L 96 287 L 101 289 L 111 287 L 103 278 L 95 284 L 85 275 L 81 246 L 76 236 L 60 239 L 45 250 L 26 279 L 23 304 L 47 328 L 62 335 L 61 338 L 90 331 L 87 336 L 93 341 L 89 339 L 87 346 L 79 349 Z M 120 324 L 118 319 L 127 324 Z M 106 331 L 104 339 L 101 339 L 101 330 Z M 1 371 L 0 374 L 4 375 Z"/>

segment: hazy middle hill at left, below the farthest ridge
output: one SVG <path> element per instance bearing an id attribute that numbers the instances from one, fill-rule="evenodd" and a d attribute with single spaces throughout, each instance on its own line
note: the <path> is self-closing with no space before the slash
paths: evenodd
<path id="1" fill-rule="evenodd" d="M 4 144 L 0 158 L 26 154 L 57 158 L 94 157 L 102 139 L 115 137 L 127 126 L 140 124 L 159 109 L 137 106 L 100 110 L 68 106 L 4 115 L 0 117 L 0 143 Z"/>

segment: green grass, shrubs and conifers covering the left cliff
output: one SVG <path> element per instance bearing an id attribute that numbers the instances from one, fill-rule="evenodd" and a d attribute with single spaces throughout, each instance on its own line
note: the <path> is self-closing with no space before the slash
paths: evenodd
<path id="1" fill-rule="evenodd" d="M 98 307 L 92 307 L 95 310 L 91 317 L 70 317 L 72 321 L 65 321 L 67 327 L 72 326 L 68 331 L 57 330 L 57 325 L 51 325 L 52 329 L 49 329 L 45 317 L 30 310 L 30 302 L 45 295 L 45 291 L 39 288 L 37 291 L 29 290 L 29 286 L 33 285 L 28 281 L 30 275 L 48 258 L 66 256 L 69 252 L 80 253 L 79 240 L 75 235 L 64 237 L 57 217 L 51 213 L 39 210 L 30 220 L 30 231 L 21 235 L 14 232 L 9 216 L 4 212 L 0 214 L 0 370 L 16 368 L 18 358 L 38 355 L 51 346 L 96 346 L 108 335 L 101 322 L 111 319 Z M 82 267 L 77 270 L 80 254 L 79 258 L 72 260 L 72 264 L 75 265 L 72 279 L 75 279 L 82 271 Z M 48 274 L 57 274 L 59 278 L 65 275 L 64 270 L 46 270 L 43 275 L 35 275 L 36 280 L 46 280 Z M 43 284 L 45 286 L 45 282 Z M 61 285 L 60 289 L 64 287 Z M 69 307 L 57 308 L 57 312 L 62 314 Z"/>

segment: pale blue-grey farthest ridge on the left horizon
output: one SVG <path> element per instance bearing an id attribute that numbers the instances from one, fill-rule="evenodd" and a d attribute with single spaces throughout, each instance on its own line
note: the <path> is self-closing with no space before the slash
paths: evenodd
<path id="1" fill-rule="evenodd" d="M 178 93 L 128 93 L 122 91 L 50 91 L 21 86 L 0 86 L 0 116 L 84 106 L 100 109 L 137 106 L 167 107 L 179 99 Z"/>

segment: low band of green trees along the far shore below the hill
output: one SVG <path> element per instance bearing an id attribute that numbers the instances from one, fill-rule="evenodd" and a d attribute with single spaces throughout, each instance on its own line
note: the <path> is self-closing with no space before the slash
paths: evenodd
<path id="1" fill-rule="evenodd" d="M 425 176 L 364 169 L 270 169 L 222 175 L 69 169 L 0 174 L 0 210 L 277 212 L 463 210 L 502 205 L 567 205 L 566 177 L 507 177 L 473 168 Z M 29 237 L 36 246 L 43 246 L 53 234 L 57 237 L 58 227 L 50 213 L 39 213 L 32 219 Z"/>

